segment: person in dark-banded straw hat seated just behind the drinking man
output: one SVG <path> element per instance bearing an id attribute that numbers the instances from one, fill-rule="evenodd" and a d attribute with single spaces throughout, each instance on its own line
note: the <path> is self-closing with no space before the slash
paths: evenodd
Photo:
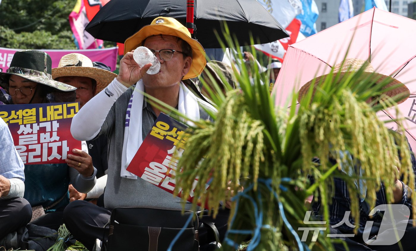
<path id="1" fill-rule="evenodd" d="M 117 76 L 105 64 L 97 62 L 95 65 L 91 59 L 82 54 L 70 53 L 59 60 L 57 68 L 52 69 L 54 80 L 77 87 L 75 102 L 79 102 L 81 108 Z M 92 157 L 92 164 L 97 169 L 97 183 L 88 193 L 78 192 L 70 184 L 68 189 L 71 202 L 77 199 L 92 199 L 91 202 L 97 203 L 97 199 L 104 194 L 108 168 L 106 135 L 87 140 L 87 146 L 89 155 Z"/>

